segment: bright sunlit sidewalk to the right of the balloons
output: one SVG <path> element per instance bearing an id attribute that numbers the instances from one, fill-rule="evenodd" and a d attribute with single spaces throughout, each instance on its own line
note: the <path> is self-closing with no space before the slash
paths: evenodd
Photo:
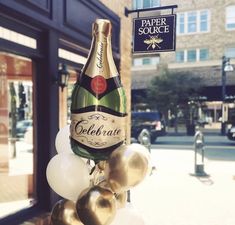
<path id="1" fill-rule="evenodd" d="M 196 177 L 193 150 L 153 149 L 156 171 L 131 190 L 146 225 L 235 225 L 235 163 L 205 162 Z"/>

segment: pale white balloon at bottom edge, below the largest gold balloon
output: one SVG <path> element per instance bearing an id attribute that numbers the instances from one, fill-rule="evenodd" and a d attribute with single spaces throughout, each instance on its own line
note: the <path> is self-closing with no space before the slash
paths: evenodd
<path id="1" fill-rule="evenodd" d="M 117 210 L 116 216 L 110 225 L 145 225 L 145 221 L 140 213 L 133 208 L 131 203 L 127 203 L 125 208 Z"/>

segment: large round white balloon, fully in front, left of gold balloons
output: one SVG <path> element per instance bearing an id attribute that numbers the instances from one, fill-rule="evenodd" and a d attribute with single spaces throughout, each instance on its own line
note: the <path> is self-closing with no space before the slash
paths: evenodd
<path id="1" fill-rule="evenodd" d="M 88 166 L 72 153 L 54 156 L 47 165 L 46 176 L 51 189 L 72 201 L 76 201 L 80 193 L 90 185 Z"/>

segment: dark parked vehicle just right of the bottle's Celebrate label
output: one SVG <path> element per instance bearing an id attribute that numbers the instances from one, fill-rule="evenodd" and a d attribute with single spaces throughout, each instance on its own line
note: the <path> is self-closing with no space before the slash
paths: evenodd
<path id="1" fill-rule="evenodd" d="M 140 136 L 147 132 L 151 143 L 154 143 L 157 137 L 166 135 L 166 124 L 162 113 L 157 111 L 132 112 L 131 136 L 140 142 Z"/>

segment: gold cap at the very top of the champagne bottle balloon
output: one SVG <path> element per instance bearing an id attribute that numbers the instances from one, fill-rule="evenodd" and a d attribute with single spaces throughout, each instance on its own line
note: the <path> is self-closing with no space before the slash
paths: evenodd
<path id="1" fill-rule="evenodd" d="M 95 23 L 93 23 L 93 34 L 97 35 L 102 33 L 105 37 L 111 35 L 112 32 L 112 24 L 109 20 L 106 19 L 97 19 Z"/>

